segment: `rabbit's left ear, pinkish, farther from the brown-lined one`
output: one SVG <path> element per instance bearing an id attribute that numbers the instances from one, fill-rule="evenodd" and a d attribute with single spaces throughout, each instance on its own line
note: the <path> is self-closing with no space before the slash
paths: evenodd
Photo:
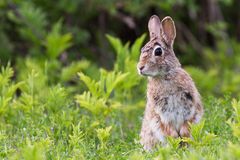
<path id="1" fill-rule="evenodd" d="M 153 15 L 150 17 L 148 21 L 148 30 L 149 30 L 150 39 L 160 37 L 160 25 L 161 25 L 161 22 L 158 16 Z"/>

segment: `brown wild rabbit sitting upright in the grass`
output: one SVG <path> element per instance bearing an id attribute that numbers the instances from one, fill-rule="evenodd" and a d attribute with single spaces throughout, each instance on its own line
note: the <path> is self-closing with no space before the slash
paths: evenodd
<path id="1" fill-rule="evenodd" d="M 203 105 L 192 78 L 173 51 L 176 29 L 172 18 L 160 21 L 153 15 L 148 30 L 150 41 L 141 49 L 137 69 L 148 77 L 140 143 L 151 151 L 157 144 L 166 145 L 168 136 L 191 137 L 189 124 L 201 120 Z"/>

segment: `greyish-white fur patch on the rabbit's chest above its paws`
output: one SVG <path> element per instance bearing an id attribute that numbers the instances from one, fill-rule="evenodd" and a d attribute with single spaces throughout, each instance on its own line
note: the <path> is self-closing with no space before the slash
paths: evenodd
<path id="1" fill-rule="evenodd" d="M 155 101 L 155 112 L 160 116 L 161 122 L 171 124 L 178 129 L 186 120 L 194 115 L 191 97 L 186 93 L 177 93 L 165 96 Z"/>

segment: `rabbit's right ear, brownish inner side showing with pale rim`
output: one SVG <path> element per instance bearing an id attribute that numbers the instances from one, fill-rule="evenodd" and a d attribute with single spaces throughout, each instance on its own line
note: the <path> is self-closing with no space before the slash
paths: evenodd
<path id="1" fill-rule="evenodd" d="M 170 46 L 173 45 L 174 39 L 176 37 L 176 28 L 174 21 L 171 17 L 167 16 L 162 20 L 162 32 L 161 35 L 166 43 Z"/>

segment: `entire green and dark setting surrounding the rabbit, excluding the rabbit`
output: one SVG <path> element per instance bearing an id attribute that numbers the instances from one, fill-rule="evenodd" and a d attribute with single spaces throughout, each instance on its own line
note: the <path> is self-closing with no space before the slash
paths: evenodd
<path id="1" fill-rule="evenodd" d="M 239 159 L 239 0 L 0 0 L 0 159 Z M 147 78 L 137 73 L 153 14 L 171 16 L 204 117 L 146 153 Z M 236 99 L 234 99 L 236 98 Z"/>

